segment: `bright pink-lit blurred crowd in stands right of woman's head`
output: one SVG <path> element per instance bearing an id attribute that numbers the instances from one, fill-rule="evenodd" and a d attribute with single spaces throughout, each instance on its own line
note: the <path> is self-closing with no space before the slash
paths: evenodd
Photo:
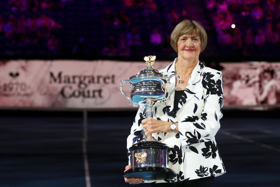
<path id="1" fill-rule="evenodd" d="M 226 54 L 278 56 L 280 1 L 207 0 L 218 42 Z M 234 24 L 234 25 L 233 25 Z"/>

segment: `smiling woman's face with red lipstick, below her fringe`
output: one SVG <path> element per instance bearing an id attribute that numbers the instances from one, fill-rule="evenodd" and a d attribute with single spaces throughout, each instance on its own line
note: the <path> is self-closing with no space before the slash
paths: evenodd
<path id="1" fill-rule="evenodd" d="M 192 35 L 184 34 L 180 36 L 177 42 L 178 58 L 181 57 L 188 61 L 198 60 L 200 45 L 201 41 L 196 33 Z"/>

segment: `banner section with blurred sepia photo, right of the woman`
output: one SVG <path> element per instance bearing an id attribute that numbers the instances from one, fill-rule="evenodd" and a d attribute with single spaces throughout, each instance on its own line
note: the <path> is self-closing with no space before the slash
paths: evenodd
<path id="1" fill-rule="evenodd" d="M 280 63 L 220 63 L 224 106 L 267 106 L 280 103 Z"/>

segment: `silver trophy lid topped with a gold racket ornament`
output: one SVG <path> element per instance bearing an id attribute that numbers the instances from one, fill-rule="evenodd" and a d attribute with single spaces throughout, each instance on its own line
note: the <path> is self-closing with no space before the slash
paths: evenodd
<path id="1" fill-rule="evenodd" d="M 145 70 L 142 70 L 141 72 L 137 73 L 136 75 L 133 75 L 129 78 L 129 80 L 134 78 L 144 78 L 144 77 L 158 77 L 162 79 L 168 79 L 166 75 L 163 75 L 158 70 L 153 69 L 153 65 L 155 63 L 155 56 L 145 56 L 144 60 L 146 61 L 147 68 Z"/>

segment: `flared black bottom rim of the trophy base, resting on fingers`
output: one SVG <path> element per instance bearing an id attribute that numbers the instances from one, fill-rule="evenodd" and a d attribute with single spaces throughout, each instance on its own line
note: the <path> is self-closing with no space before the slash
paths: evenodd
<path id="1" fill-rule="evenodd" d="M 143 178 L 143 180 L 173 179 L 176 173 L 166 167 L 136 167 L 125 172 L 126 178 Z"/>

